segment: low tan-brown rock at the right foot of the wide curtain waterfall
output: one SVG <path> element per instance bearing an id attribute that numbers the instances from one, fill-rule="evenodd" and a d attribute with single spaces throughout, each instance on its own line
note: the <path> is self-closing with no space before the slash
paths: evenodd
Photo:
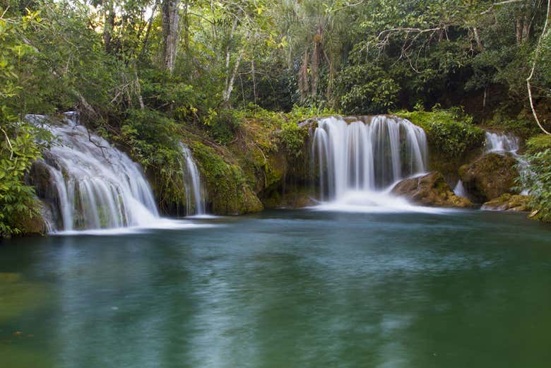
<path id="1" fill-rule="evenodd" d="M 473 207 L 467 198 L 458 197 L 439 172 L 430 172 L 422 177 L 405 179 L 393 187 L 392 193 L 405 196 L 414 203 L 434 207 Z"/>

